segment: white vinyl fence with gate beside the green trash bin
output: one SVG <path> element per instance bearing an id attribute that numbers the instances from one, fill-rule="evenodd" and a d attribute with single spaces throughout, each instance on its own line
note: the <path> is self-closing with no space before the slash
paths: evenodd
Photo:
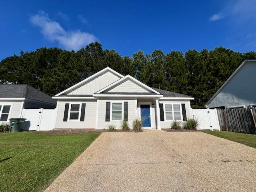
<path id="1" fill-rule="evenodd" d="M 24 131 L 47 131 L 54 129 L 56 109 L 23 109 L 22 118 L 26 118 Z"/>

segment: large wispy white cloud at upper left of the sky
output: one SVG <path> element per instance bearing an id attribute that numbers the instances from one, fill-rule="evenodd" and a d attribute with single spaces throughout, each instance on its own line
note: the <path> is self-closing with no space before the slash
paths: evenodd
<path id="1" fill-rule="evenodd" d="M 44 11 L 39 11 L 38 14 L 31 16 L 30 21 L 41 28 L 45 38 L 59 42 L 67 50 L 79 50 L 98 40 L 93 34 L 80 30 L 64 30 L 58 22 L 50 20 L 48 14 Z"/>

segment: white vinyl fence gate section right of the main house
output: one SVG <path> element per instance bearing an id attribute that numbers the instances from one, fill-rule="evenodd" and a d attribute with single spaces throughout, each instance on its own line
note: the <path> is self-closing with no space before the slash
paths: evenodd
<path id="1" fill-rule="evenodd" d="M 216 109 L 191 109 L 191 114 L 198 120 L 198 130 L 220 130 Z"/>

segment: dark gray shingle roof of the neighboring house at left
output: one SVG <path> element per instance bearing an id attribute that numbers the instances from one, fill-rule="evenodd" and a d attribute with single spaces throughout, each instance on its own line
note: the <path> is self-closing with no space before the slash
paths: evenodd
<path id="1" fill-rule="evenodd" d="M 56 104 L 56 100 L 52 99 L 51 96 L 26 84 L 0 84 L 1 98 L 27 98 Z"/>

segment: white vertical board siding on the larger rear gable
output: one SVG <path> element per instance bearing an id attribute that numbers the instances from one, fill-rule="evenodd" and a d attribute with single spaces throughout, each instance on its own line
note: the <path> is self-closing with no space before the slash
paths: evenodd
<path id="1" fill-rule="evenodd" d="M 76 90 L 73 90 L 72 92 L 68 93 L 68 95 L 92 95 L 119 79 L 120 77 L 108 71 L 101 76 L 98 76 L 94 80 L 84 84 L 83 86 L 80 86 Z"/>

